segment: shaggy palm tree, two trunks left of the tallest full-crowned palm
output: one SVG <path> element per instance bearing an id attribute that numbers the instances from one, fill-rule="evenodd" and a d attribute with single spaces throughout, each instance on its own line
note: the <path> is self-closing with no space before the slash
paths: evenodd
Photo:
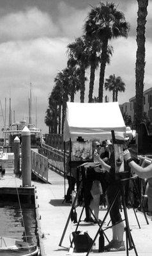
<path id="1" fill-rule="evenodd" d="M 84 38 L 76 38 L 75 42 L 68 44 L 67 48 L 68 58 L 71 63 L 73 62 L 73 65 L 80 67 L 80 102 L 84 102 L 85 72 L 86 68 L 89 67 L 88 53 L 86 51 Z"/>

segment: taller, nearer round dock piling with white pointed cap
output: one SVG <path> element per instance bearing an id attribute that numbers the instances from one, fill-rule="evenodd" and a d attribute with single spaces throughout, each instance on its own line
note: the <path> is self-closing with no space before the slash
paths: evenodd
<path id="1" fill-rule="evenodd" d="M 22 130 L 22 186 L 31 187 L 31 132 L 24 127 Z"/>

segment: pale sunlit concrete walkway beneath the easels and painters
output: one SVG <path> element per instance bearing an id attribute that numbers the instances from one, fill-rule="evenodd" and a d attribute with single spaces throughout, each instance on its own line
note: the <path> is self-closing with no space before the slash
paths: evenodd
<path id="1" fill-rule="evenodd" d="M 56 176 L 57 175 L 57 176 Z M 58 182 L 57 182 L 58 181 Z M 64 191 L 64 179 L 59 177 L 58 174 L 52 173 L 52 184 L 42 184 L 39 182 L 34 182 L 36 186 L 37 204 L 39 205 L 38 212 L 41 216 L 40 225 L 43 234 L 43 247 L 45 253 L 42 256 L 65 256 L 69 255 L 68 248 L 70 246 L 70 233 L 75 230 L 75 224 L 71 221 L 68 224 L 68 228 L 63 239 L 62 246 L 59 246 L 63 230 L 70 213 L 71 205 L 63 202 L 65 191 Z M 67 186 L 67 185 L 66 185 Z M 77 215 L 82 210 L 82 207 L 77 207 Z M 144 215 L 141 212 L 137 212 L 137 217 L 141 225 L 141 229 L 137 224 L 135 219 L 135 214 L 132 209 L 128 211 L 128 219 L 130 223 L 130 228 L 132 229 L 132 237 L 135 243 L 135 248 L 139 256 L 150 256 L 152 255 L 152 221 L 148 218 L 149 225 L 146 224 Z M 123 215 L 123 214 L 122 214 Z M 105 216 L 105 211 L 100 210 L 99 218 L 102 220 Z M 81 220 L 85 218 L 85 211 L 82 215 Z M 109 216 L 106 220 L 105 226 L 109 223 Z M 98 230 L 98 225 L 90 225 L 84 221 L 80 222 L 78 230 L 88 231 L 89 236 L 95 237 Z M 105 234 L 111 239 L 112 230 L 109 228 L 105 231 Z M 124 236 L 125 240 L 125 236 Z M 105 241 L 107 244 L 107 241 Z M 89 253 L 90 255 L 99 255 L 98 253 L 98 237 L 96 239 L 96 250 Z M 86 253 L 72 253 L 73 256 L 86 255 Z M 103 256 L 111 255 L 126 255 L 126 252 L 104 252 Z M 134 250 L 129 251 L 129 255 L 135 255 Z"/>

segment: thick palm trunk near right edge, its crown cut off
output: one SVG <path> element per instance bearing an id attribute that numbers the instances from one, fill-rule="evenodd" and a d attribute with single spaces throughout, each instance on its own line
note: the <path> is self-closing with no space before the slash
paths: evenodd
<path id="1" fill-rule="evenodd" d="M 135 63 L 135 125 L 139 129 L 142 120 L 142 99 L 144 91 L 144 67 L 145 67 L 145 25 L 148 14 L 148 0 L 137 0 L 138 18 L 137 18 L 137 52 Z"/>

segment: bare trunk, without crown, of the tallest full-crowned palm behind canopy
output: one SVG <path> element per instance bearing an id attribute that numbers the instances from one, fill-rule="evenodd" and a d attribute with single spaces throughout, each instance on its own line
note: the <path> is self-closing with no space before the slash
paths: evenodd
<path id="1" fill-rule="evenodd" d="M 102 55 L 101 55 L 101 65 L 100 65 L 100 78 L 99 78 L 99 89 L 98 89 L 99 102 L 103 101 L 103 84 L 104 84 L 104 77 L 105 77 L 105 67 L 107 63 L 107 45 L 108 45 L 108 40 L 105 39 L 102 45 Z"/>

